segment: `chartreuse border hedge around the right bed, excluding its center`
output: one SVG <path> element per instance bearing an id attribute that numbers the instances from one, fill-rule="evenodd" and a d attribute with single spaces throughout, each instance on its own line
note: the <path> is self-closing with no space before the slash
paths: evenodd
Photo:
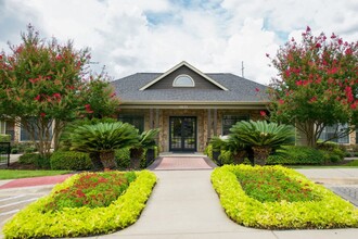
<path id="1" fill-rule="evenodd" d="M 305 176 L 282 166 L 265 166 L 282 172 L 321 200 L 308 202 L 259 202 L 248 197 L 238 181 L 236 174 L 260 166 L 226 165 L 215 168 L 212 183 L 228 216 L 238 224 L 264 229 L 307 229 L 358 227 L 358 210 L 323 186 L 315 185 Z"/>

